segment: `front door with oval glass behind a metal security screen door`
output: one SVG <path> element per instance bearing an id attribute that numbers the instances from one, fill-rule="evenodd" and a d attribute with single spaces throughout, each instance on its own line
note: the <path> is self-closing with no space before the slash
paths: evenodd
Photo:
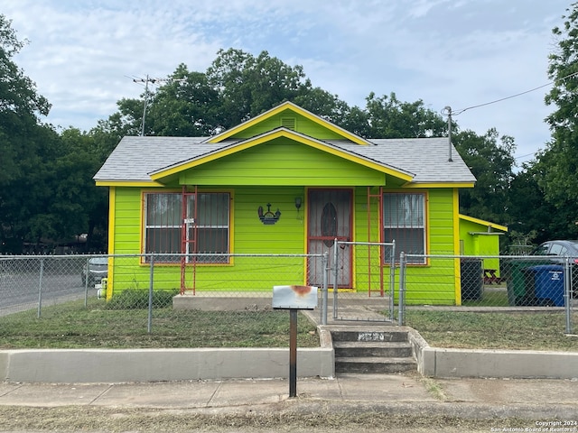
<path id="1" fill-rule="evenodd" d="M 335 239 L 351 241 L 352 226 L 351 189 L 310 189 L 307 196 L 307 253 L 322 254 L 329 252 L 329 266 L 333 269 Z M 352 287 L 351 248 L 343 247 L 339 252 L 337 285 L 340 288 Z M 322 259 L 313 257 L 308 262 L 308 281 L 312 286 L 322 285 Z M 330 272 L 329 286 L 334 285 L 335 275 Z"/>

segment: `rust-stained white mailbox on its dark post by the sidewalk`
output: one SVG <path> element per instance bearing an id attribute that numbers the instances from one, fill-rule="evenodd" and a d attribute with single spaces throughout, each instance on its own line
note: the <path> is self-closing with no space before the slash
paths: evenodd
<path id="1" fill-rule="evenodd" d="M 273 287 L 273 308 L 289 310 L 289 397 L 297 397 L 297 312 L 315 307 L 317 287 Z"/>

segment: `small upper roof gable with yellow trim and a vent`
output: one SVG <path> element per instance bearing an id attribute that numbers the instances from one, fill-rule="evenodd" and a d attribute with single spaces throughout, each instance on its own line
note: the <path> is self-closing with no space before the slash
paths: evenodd
<path id="1" fill-rule="evenodd" d="M 276 128 L 291 129 L 321 140 L 347 140 L 361 145 L 369 144 L 367 140 L 359 137 L 359 135 L 351 134 L 349 131 L 332 124 L 319 115 L 313 115 L 304 108 L 295 106 L 292 102 L 284 102 L 261 115 L 247 120 L 247 122 L 215 135 L 208 140 L 208 143 L 220 143 L 223 140 L 235 138 L 246 139 Z"/>

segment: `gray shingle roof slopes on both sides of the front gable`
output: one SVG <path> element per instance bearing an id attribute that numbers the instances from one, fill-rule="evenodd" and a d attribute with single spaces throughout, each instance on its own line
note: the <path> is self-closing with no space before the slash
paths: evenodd
<path id="1" fill-rule="evenodd" d="M 208 137 L 134 137 L 127 136 L 118 143 L 104 165 L 94 176 L 98 181 L 150 181 L 150 173 L 182 161 L 218 152 L 230 146 L 224 143 L 205 143 Z M 413 182 L 470 183 L 475 178 L 460 155 L 452 148 L 452 162 L 448 161 L 447 138 L 370 140 L 375 145 L 359 145 L 347 141 L 329 144 L 362 158 L 415 175 Z"/>

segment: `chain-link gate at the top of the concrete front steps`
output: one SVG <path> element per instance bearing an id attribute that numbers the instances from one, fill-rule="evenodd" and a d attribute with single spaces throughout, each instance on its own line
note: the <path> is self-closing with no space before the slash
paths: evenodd
<path id="1" fill-rule="evenodd" d="M 353 251 L 349 251 L 352 249 Z M 333 319 L 393 322 L 395 320 L 396 243 L 335 240 L 330 255 Z M 352 257 L 353 284 L 343 288 L 338 274 Z"/>

